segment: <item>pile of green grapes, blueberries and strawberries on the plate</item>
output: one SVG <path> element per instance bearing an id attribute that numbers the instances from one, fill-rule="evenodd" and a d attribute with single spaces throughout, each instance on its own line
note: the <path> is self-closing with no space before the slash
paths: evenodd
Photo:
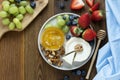
<path id="1" fill-rule="evenodd" d="M 77 15 L 64 14 L 57 16 L 56 26 L 66 35 L 66 39 L 71 36 L 82 37 L 86 41 L 92 41 L 96 37 L 96 32 L 90 28 L 90 15 L 85 13 L 80 17 Z M 45 28 L 53 26 L 47 24 Z M 70 34 L 69 34 L 70 32 Z"/>

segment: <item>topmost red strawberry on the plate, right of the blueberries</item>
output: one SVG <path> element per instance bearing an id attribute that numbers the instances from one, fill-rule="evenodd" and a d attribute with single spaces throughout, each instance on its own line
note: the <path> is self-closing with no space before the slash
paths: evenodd
<path id="1" fill-rule="evenodd" d="M 88 13 L 81 15 L 78 23 L 83 29 L 87 28 L 90 25 L 90 15 Z"/>

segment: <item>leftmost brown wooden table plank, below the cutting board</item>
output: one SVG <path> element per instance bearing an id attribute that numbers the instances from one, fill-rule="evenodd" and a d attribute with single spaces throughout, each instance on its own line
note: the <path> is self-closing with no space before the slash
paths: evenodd
<path id="1" fill-rule="evenodd" d="M 23 32 L 11 32 L 0 41 L 0 80 L 23 80 L 24 54 L 22 48 Z"/>

